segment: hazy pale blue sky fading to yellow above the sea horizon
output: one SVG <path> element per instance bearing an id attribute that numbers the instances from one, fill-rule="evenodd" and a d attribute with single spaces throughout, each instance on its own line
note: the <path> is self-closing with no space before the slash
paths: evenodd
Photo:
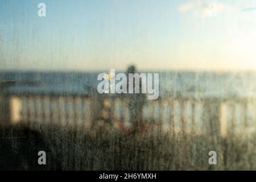
<path id="1" fill-rule="evenodd" d="M 2 0 L 0 69 L 256 70 L 255 32 L 256 1 Z"/>

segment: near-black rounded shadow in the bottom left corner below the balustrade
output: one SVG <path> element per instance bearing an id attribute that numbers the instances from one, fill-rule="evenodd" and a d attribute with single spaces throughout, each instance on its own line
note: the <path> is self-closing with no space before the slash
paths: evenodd
<path id="1" fill-rule="evenodd" d="M 39 165 L 38 152 L 45 151 L 51 155 L 48 143 L 36 130 L 24 126 L 1 127 L 0 132 L 0 170 L 50 170 L 61 169 L 54 158 L 47 164 Z"/>

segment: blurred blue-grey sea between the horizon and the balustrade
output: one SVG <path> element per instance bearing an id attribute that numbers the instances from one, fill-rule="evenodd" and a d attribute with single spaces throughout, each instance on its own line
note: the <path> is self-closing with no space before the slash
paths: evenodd
<path id="1" fill-rule="evenodd" d="M 14 94 L 97 92 L 101 72 L 0 72 L 0 82 L 15 81 L 0 92 Z M 147 72 L 144 72 L 147 73 Z M 256 72 L 150 72 L 159 73 L 159 96 L 256 97 Z"/>

